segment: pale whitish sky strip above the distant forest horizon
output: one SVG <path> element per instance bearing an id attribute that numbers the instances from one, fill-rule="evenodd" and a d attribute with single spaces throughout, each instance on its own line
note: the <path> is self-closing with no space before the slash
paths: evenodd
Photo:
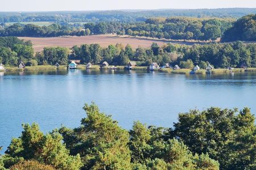
<path id="1" fill-rule="evenodd" d="M 256 0 L 0 0 L 0 11 L 93 11 L 256 7 Z"/>

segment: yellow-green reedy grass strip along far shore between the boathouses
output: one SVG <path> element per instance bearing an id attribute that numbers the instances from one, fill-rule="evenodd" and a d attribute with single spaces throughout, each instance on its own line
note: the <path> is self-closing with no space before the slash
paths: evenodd
<path id="1" fill-rule="evenodd" d="M 116 70 L 123 70 L 125 69 L 125 66 L 112 66 L 109 65 L 108 67 L 104 67 L 102 69 L 113 69 L 115 68 Z M 58 68 L 55 67 L 54 65 L 37 65 L 37 66 L 30 66 L 30 67 L 25 67 L 25 68 L 18 68 L 18 67 L 6 67 L 6 71 L 7 72 L 31 72 L 31 71 L 56 71 L 56 70 L 66 70 L 68 69 L 68 65 L 60 65 Z M 80 64 L 77 66 L 77 69 L 81 69 L 81 70 L 85 70 L 86 69 L 86 65 L 84 64 Z M 100 65 L 92 65 L 92 67 L 90 67 L 89 69 L 92 70 L 100 70 Z M 133 67 L 131 68 L 131 70 L 138 70 L 138 71 L 147 71 L 149 70 L 148 67 Z M 179 73 L 179 74 L 189 74 L 189 72 L 191 71 L 191 69 L 171 69 L 171 68 L 159 68 L 159 69 L 155 69 L 154 71 L 156 72 L 164 72 L 164 73 Z M 231 71 L 229 69 L 222 69 L 222 68 L 218 68 L 218 69 L 212 69 L 212 73 L 230 73 L 230 72 L 234 72 L 234 73 L 238 73 L 238 72 L 256 72 L 256 68 L 247 68 L 247 69 L 243 69 L 243 68 L 234 68 Z M 196 71 L 195 74 L 205 74 L 206 71 L 205 69 L 200 69 L 199 71 Z"/>

